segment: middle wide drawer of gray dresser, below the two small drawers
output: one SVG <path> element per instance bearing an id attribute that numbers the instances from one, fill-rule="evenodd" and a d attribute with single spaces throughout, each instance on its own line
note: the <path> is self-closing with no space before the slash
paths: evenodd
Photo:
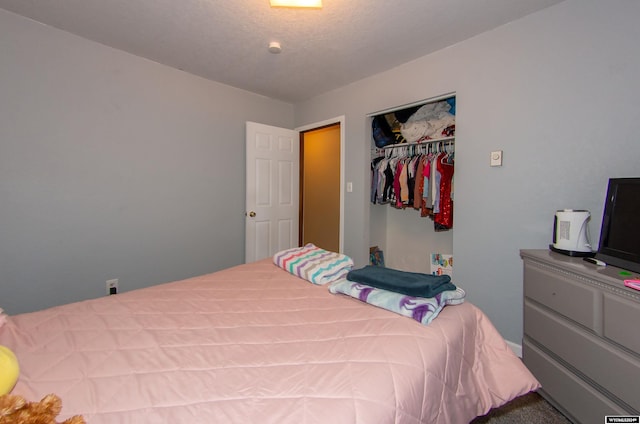
<path id="1" fill-rule="evenodd" d="M 640 361 L 570 321 L 525 301 L 525 335 L 640 411 Z"/>

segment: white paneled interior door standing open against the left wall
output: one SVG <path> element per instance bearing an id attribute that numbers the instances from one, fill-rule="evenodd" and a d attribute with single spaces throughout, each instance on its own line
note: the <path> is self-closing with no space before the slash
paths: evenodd
<path id="1" fill-rule="evenodd" d="M 245 262 L 298 245 L 297 131 L 247 122 Z"/>

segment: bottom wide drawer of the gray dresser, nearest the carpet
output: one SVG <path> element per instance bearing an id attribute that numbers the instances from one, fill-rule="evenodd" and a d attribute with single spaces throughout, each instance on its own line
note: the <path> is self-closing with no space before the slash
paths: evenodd
<path id="1" fill-rule="evenodd" d="M 580 423 L 604 422 L 605 415 L 624 415 L 619 405 L 571 374 L 550 356 L 532 346 L 525 339 L 523 360 L 527 368 L 542 385 L 544 397 L 551 397 L 561 411 L 571 411 L 572 419 Z"/>

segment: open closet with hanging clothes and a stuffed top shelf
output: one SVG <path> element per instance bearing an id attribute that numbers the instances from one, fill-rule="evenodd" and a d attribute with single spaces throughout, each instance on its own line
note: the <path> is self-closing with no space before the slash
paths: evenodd
<path id="1" fill-rule="evenodd" d="M 451 274 L 455 93 L 368 117 L 371 247 L 389 268 Z"/>

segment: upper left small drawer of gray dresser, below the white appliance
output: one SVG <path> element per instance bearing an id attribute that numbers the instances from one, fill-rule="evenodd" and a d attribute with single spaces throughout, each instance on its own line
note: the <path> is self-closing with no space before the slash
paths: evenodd
<path id="1" fill-rule="evenodd" d="M 595 288 L 572 281 L 557 270 L 525 263 L 524 295 L 575 322 L 600 333 L 602 317 L 600 293 Z"/>

